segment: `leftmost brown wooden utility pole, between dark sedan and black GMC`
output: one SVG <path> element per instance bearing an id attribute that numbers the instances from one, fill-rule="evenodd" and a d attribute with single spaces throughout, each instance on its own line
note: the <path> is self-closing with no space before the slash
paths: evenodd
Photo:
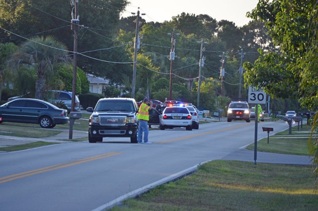
<path id="1" fill-rule="evenodd" d="M 74 31 L 74 50 L 73 50 L 73 81 L 72 81 L 72 102 L 71 102 L 71 112 L 74 111 L 75 104 L 75 92 L 76 92 L 76 70 L 77 70 L 77 40 L 78 40 L 78 28 L 79 28 L 79 15 L 78 15 L 78 0 L 71 0 L 72 13 L 71 13 L 71 30 Z M 74 9 L 74 13 L 73 13 Z M 69 134 L 68 139 L 73 137 L 73 123 L 74 118 L 69 120 Z"/>

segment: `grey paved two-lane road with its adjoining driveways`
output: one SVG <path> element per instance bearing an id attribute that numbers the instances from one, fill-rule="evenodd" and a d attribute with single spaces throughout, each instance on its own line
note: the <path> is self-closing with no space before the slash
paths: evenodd
<path id="1" fill-rule="evenodd" d="M 274 132 L 287 129 L 283 122 L 263 125 L 273 126 Z M 152 145 L 132 144 L 129 139 L 104 139 L 96 144 L 67 141 L 67 144 L 1 153 L 0 165 L 4 169 L 0 172 L 1 210 L 36 211 L 51 207 L 53 210 L 101 211 L 127 197 L 189 174 L 198 164 L 207 161 L 253 162 L 253 151 L 243 147 L 253 141 L 252 128 L 253 124 L 246 122 L 214 122 L 193 131 L 151 131 Z M 73 138 L 77 136 L 87 137 L 87 133 L 73 131 Z M 264 137 L 267 133 L 260 129 L 259 139 Z M 2 138 L 5 137 L 0 136 L 0 141 Z M 68 131 L 64 131 L 43 140 L 67 138 Z M 17 139 L 10 138 L 13 142 L 19 141 Z M 257 162 L 310 164 L 310 159 L 258 152 Z M 35 169 L 37 171 L 32 173 Z M 16 179 L 14 175 L 21 178 Z M 8 194 L 10 192 L 15 194 Z M 17 203 L 16 198 L 23 201 Z M 38 207 L 34 207 L 35 200 Z"/>

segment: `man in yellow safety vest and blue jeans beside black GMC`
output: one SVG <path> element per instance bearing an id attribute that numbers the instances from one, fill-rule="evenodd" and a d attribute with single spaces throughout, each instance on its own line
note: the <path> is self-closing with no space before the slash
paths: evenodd
<path id="1" fill-rule="evenodd" d="M 149 110 L 152 109 L 152 101 L 150 101 L 150 105 L 148 105 L 149 99 L 146 97 L 143 99 L 139 109 L 138 109 L 138 135 L 137 135 L 137 141 L 138 144 L 142 143 L 142 133 L 143 135 L 143 141 L 145 144 L 152 144 L 152 142 L 148 141 L 148 121 L 149 121 Z"/>

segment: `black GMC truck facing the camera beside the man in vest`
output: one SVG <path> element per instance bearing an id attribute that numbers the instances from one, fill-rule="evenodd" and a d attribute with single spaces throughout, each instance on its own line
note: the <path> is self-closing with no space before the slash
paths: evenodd
<path id="1" fill-rule="evenodd" d="M 130 137 L 137 142 L 138 106 L 133 98 L 102 98 L 92 112 L 89 122 L 89 142 L 103 141 L 103 137 Z"/>

